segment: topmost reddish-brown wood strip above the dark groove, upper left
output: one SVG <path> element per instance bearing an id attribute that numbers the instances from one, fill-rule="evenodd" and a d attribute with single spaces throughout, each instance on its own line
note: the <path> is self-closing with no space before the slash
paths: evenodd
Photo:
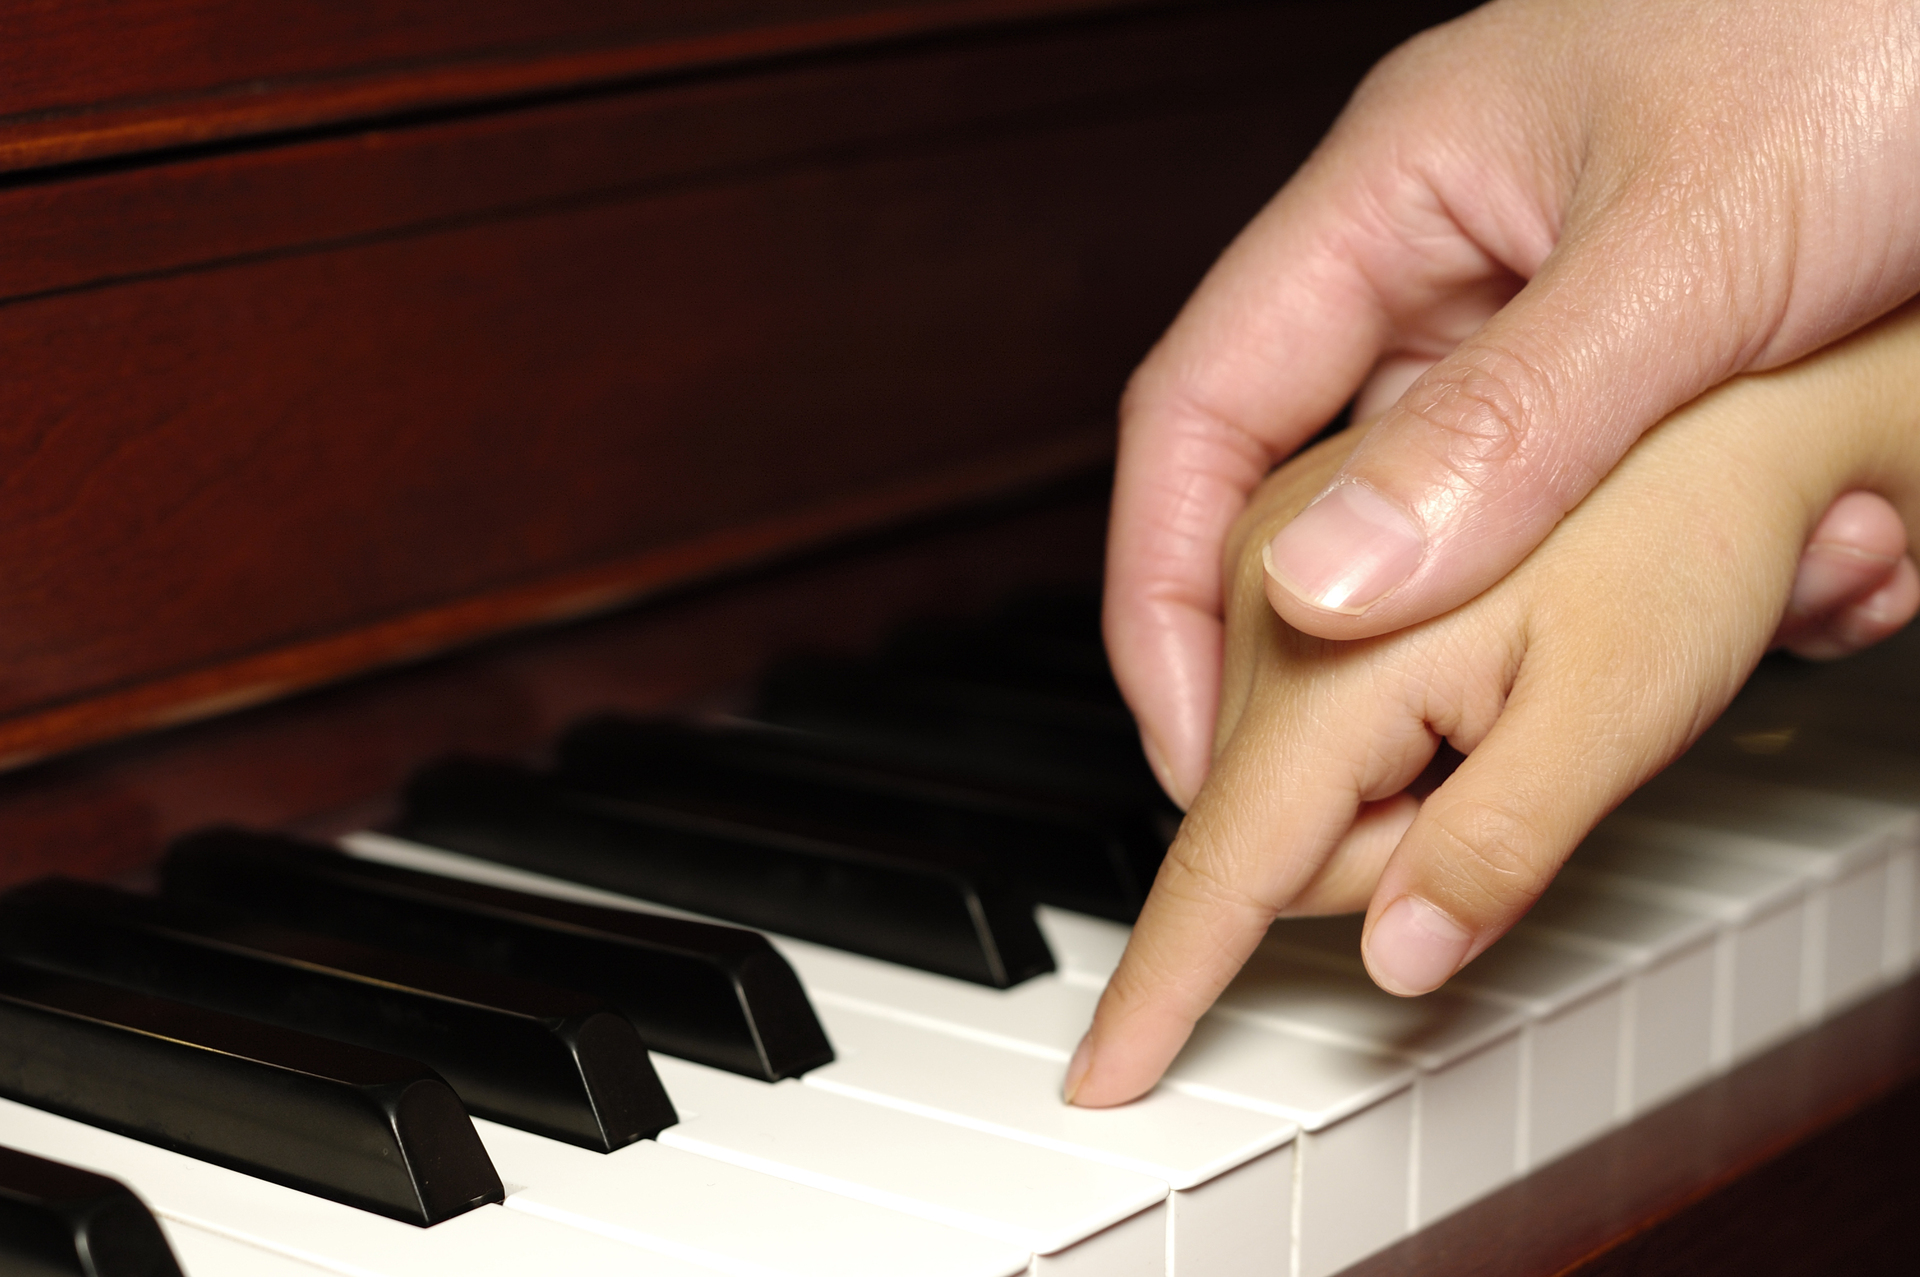
<path id="1" fill-rule="evenodd" d="M 1146 0 L 38 0 L 0 171 L 365 121 Z M 1158 0 L 1167 8 L 1173 0 Z"/>

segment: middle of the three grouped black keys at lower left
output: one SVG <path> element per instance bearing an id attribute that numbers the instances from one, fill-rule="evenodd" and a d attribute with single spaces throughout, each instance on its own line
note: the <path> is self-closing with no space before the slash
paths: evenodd
<path id="1" fill-rule="evenodd" d="M 634 1025 L 566 989 L 58 878 L 0 897 L 0 952 L 420 1060 L 468 1112 L 597 1152 L 676 1120 Z"/>

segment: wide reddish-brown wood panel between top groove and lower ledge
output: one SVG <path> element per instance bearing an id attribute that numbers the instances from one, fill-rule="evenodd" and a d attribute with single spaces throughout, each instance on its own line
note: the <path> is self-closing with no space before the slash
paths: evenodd
<path id="1" fill-rule="evenodd" d="M 1398 35 L 1194 8 L 0 192 L 0 760 L 1085 467 Z"/>

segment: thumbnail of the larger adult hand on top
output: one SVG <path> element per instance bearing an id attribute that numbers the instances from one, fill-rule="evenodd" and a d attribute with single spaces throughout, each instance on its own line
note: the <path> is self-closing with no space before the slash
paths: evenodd
<path id="1" fill-rule="evenodd" d="M 1340 484 L 1279 530 L 1267 572 L 1329 613 L 1357 616 L 1419 566 L 1427 538 L 1365 484 Z"/>

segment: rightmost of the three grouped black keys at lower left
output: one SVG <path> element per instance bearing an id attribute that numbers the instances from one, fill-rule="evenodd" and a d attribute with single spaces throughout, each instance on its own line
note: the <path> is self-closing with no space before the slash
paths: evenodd
<path id="1" fill-rule="evenodd" d="M 787 960 L 756 931 L 595 908 L 420 874 L 288 837 L 211 830 L 175 843 L 169 895 L 286 926 L 578 989 L 655 1050 L 778 1081 L 833 1048 Z"/>

